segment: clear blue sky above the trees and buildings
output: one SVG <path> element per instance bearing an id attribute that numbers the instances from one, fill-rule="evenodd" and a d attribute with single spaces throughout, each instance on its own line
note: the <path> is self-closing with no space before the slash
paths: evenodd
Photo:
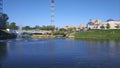
<path id="1" fill-rule="evenodd" d="M 120 0 L 55 0 L 56 27 L 86 25 L 90 19 L 120 20 Z M 8 22 L 20 26 L 50 25 L 51 0 L 4 0 Z"/>

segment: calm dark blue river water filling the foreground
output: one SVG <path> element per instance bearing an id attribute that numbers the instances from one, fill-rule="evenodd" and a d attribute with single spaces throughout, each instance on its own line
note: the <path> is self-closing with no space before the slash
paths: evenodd
<path id="1" fill-rule="evenodd" d="M 120 40 L 1 40 L 0 68 L 120 68 Z"/>

